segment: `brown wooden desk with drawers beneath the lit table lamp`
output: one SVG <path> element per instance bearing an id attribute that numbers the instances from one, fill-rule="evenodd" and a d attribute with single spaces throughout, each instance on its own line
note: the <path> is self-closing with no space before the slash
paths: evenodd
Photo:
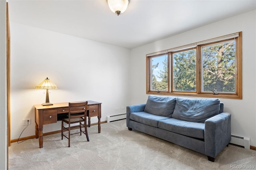
<path id="1" fill-rule="evenodd" d="M 54 103 L 53 105 L 34 105 L 36 117 L 36 138 L 39 138 L 39 148 L 43 147 L 43 126 L 57 123 L 68 113 L 68 102 Z M 98 133 L 100 133 L 101 103 L 88 100 L 87 107 L 88 127 L 91 125 L 91 117 L 98 116 Z"/>

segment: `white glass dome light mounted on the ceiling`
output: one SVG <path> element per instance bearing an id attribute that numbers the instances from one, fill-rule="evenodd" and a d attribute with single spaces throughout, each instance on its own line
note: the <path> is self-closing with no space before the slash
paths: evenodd
<path id="1" fill-rule="evenodd" d="M 107 0 L 107 2 L 110 10 L 119 16 L 126 10 L 130 0 Z"/>

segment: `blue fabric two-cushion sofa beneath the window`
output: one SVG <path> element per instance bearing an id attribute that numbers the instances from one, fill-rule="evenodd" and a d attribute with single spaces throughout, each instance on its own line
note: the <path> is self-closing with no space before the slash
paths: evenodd
<path id="1" fill-rule="evenodd" d="M 231 114 L 216 98 L 149 95 L 146 104 L 126 107 L 126 125 L 208 156 L 214 162 L 231 140 Z"/>

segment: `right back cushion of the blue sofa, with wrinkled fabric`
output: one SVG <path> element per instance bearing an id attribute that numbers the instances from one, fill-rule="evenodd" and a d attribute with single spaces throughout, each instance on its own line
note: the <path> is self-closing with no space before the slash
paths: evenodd
<path id="1" fill-rule="evenodd" d="M 177 98 L 172 117 L 184 121 L 204 123 L 204 121 L 220 111 L 220 100 Z"/>

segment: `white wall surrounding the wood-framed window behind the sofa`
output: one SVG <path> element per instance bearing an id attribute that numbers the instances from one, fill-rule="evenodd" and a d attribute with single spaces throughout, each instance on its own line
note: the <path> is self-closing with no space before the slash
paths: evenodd
<path id="1" fill-rule="evenodd" d="M 185 24 L 185 23 L 184 23 Z M 220 99 L 232 114 L 231 133 L 256 146 L 256 11 L 228 18 L 131 50 L 131 103 L 145 103 L 146 54 L 242 31 L 242 100 Z"/>

